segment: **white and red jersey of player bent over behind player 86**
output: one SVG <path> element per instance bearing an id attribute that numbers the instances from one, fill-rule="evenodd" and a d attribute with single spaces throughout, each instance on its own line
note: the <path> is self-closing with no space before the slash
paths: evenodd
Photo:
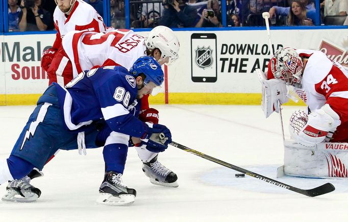
<path id="1" fill-rule="evenodd" d="M 109 29 L 106 33 L 74 31 L 65 35 L 62 45 L 76 77 L 97 66 L 120 65 L 130 69 L 139 57 L 146 55 L 144 40 L 126 29 Z"/>

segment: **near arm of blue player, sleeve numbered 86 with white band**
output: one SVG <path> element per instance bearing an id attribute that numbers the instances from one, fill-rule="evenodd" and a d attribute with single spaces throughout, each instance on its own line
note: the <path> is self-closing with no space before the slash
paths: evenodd
<path id="1" fill-rule="evenodd" d="M 139 138 L 146 134 L 145 124 L 134 116 L 134 111 L 129 111 L 135 105 L 133 102 L 138 90 L 127 69 L 105 70 L 93 81 L 93 87 L 104 119 L 112 131 Z"/>

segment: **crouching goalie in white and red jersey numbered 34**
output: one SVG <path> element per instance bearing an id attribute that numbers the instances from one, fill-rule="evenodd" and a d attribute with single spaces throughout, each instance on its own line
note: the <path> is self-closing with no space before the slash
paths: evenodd
<path id="1" fill-rule="evenodd" d="M 286 103 L 291 90 L 308 106 L 308 111 L 296 111 L 290 118 L 290 134 L 293 143 L 298 145 L 285 141 L 285 172 L 331 177 L 327 169 L 330 155 L 312 153 L 309 147 L 317 149 L 326 142 L 348 142 L 348 71 L 320 51 L 281 48 L 268 64 L 267 77 L 260 71 L 259 75 L 263 75 L 260 79 L 266 117 L 279 111 L 277 101 Z M 296 146 L 297 151 L 310 151 L 310 160 L 288 146 Z M 341 156 L 340 161 L 348 163 L 348 155 Z M 321 168 L 325 169 L 321 171 Z"/>

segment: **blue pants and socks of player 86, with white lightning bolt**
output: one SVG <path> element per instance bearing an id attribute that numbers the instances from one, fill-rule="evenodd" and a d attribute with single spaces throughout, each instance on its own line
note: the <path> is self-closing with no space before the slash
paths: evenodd
<path id="1" fill-rule="evenodd" d="M 122 174 L 126 164 L 129 136 L 112 132 L 105 121 L 93 123 L 83 130 L 70 131 L 65 128 L 56 87 L 49 86 L 39 98 L 37 107 L 13 147 L 11 156 L 0 164 L 0 184 L 4 180 L 20 179 L 28 175 L 34 167 L 42 170 L 46 161 L 58 149 L 85 150 L 104 146 L 103 155 L 107 170 Z"/>

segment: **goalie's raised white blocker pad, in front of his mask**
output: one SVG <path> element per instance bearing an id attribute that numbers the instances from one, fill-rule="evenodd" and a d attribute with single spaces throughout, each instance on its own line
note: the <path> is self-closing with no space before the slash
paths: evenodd
<path id="1" fill-rule="evenodd" d="M 256 69 L 262 85 L 261 108 L 266 118 L 274 111 L 279 113 L 280 105 L 289 101 L 288 90 L 286 84 L 278 79 L 267 80 L 267 77 L 261 69 Z"/>

